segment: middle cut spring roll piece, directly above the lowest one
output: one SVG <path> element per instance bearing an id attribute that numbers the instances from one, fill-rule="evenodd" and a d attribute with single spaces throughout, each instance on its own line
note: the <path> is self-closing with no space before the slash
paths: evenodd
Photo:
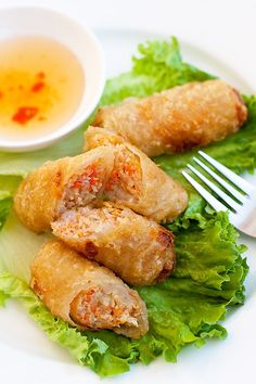
<path id="1" fill-rule="evenodd" d="M 53 233 L 133 285 L 165 280 L 175 268 L 174 235 L 155 221 L 113 203 L 66 212 Z"/>

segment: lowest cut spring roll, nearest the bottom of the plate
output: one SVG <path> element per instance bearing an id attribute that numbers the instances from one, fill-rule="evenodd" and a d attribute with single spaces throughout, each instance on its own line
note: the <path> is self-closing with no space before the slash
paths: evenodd
<path id="1" fill-rule="evenodd" d="M 135 338 L 149 330 L 139 294 L 61 242 L 48 242 L 39 251 L 31 265 L 30 286 L 52 315 L 73 327 L 110 329 Z"/>

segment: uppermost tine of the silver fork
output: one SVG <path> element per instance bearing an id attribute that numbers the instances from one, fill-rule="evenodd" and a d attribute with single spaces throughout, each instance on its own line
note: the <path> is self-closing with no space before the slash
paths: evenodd
<path id="1" fill-rule="evenodd" d="M 222 164 L 204 153 L 203 151 L 199 151 L 199 154 L 204 157 L 209 164 L 212 164 L 217 170 L 220 171 L 223 176 L 227 177 L 232 183 L 239 187 L 242 191 L 246 192 L 247 194 L 253 191 L 254 187 L 251 185 L 247 181 L 242 179 L 240 176 L 235 175 L 232 170 L 225 167 Z"/>

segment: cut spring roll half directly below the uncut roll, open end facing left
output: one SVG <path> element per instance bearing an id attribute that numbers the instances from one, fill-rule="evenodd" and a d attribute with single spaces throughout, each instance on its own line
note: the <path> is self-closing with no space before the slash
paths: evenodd
<path id="1" fill-rule="evenodd" d="M 184 189 L 157 167 L 144 153 L 116 133 L 89 127 L 84 150 L 113 146 L 113 172 L 105 185 L 105 196 L 136 213 L 161 221 L 171 221 L 187 207 Z"/>

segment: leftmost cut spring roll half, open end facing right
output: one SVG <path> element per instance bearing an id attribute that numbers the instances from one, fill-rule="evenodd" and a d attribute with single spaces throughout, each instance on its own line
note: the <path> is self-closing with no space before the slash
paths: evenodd
<path id="1" fill-rule="evenodd" d="M 104 191 L 113 170 L 110 148 L 48 162 L 21 183 L 14 208 L 21 221 L 35 232 L 50 229 L 50 223 L 65 209 L 89 204 Z"/>

